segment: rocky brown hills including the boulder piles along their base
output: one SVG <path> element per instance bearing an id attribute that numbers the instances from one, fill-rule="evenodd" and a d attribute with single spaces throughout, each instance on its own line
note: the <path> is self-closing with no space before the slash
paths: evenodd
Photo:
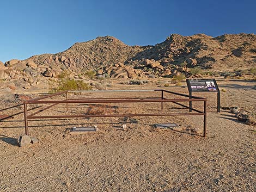
<path id="1" fill-rule="evenodd" d="M 112 36 L 76 43 L 57 54 L 34 55 L 26 60 L 0 62 L 4 82 L 75 75 L 95 70 L 99 77 L 148 78 L 189 75 L 197 67 L 208 71 L 234 71 L 256 67 L 256 35 L 233 34 L 213 38 L 204 34 L 172 34 L 155 46 L 128 46 Z M 29 86 L 28 86 L 29 87 Z"/>

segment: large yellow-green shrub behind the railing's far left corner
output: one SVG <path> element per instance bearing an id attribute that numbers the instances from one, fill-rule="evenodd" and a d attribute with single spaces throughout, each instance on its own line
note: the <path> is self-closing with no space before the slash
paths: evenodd
<path id="1" fill-rule="evenodd" d="M 84 83 L 82 80 L 62 78 L 55 83 L 57 83 L 57 88 L 52 88 L 50 92 L 91 89 L 90 85 Z"/>

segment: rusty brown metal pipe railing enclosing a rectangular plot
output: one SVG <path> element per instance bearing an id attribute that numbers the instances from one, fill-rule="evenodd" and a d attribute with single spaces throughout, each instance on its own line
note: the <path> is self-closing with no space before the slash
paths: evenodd
<path id="1" fill-rule="evenodd" d="M 143 92 L 143 91 L 157 91 L 160 92 L 159 97 L 118 97 L 118 98 L 69 98 L 70 93 L 78 92 Z M 185 98 L 165 98 L 164 95 L 173 94 L 182 96 Z M 65 95 L 64 100 L 45 100 L 46 98 L 52 98 L 54 96 Z M 96 104 L 96 103 L 161 103 L 161 109 L 163 109 L 163 104 L 166 102 L 175 103 L 181 107 L 191 110 L 190 113 L 147 113 L 147 114 L 84 114 L 84 115 L 44 115 L 38 116 L 39 113 L 43 112 L 46 109 L 49 109 L 57 104 L 65 104 L 66 112 L 69 111 L 69 104 Z M 203 102 L 203 110 L 198 110 L 180 102 Z M 29 135 L 28 130 L 28 119 L 62 119 L 62 118 L 77 118 L 77 117 L 130 117 L 130 116 L 176 116 L 176 115 L 203 115 L 203 137 L 206 137 L 206 98 L 190 96 L 185 94 L 180 94 L 178 92 L 168 91 L 164 89 L 157 90 L 104 90 L 104 91 L 63 91 L 56 94 L 51 94 L 43 97 L 34 98 L 32 100 L 27 100 L 24 102 L 24 117 L 25 117 L 25 132 Z M 51 104 L 51 106 L 45 107 L 38 110 L 32 114 L 28 114 L 28 104 Z"/>

